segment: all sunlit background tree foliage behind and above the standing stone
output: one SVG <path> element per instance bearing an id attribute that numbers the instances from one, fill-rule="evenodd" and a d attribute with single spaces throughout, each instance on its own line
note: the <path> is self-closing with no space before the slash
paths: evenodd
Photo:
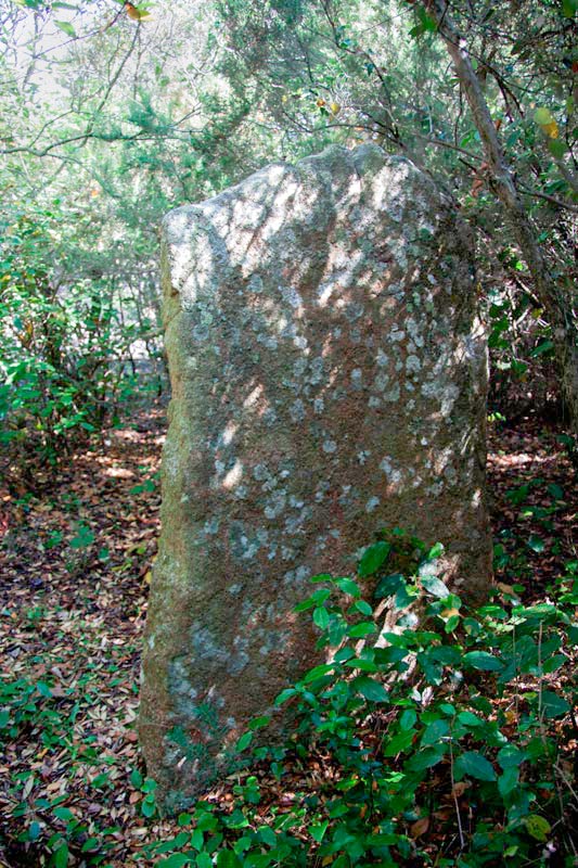
<path id="1" fill-rule="evenodd" d="M 448 12 L 545 257 L 555 289 L 545 299 L 504 232 L 429 0 L 162 0 L 136 17 L 131 9 L 30 0 L 3 11 L 2 228 L 21 244 L 9 238 L 2 275 L 27 275 L 3 286 L 4 439 L 33 435 L 62 454 L 76 432 L 116 413 L 127 362 L 158 370 L 164 213 L 334 141 L 377 141 L 452 192 L 481 242 L 498 409 L 512 395 L 555 399 L 560 334 L 567 327 L 571 343 L 576 331 L 573 3 L 472 10 L 455 0 Z"/>

